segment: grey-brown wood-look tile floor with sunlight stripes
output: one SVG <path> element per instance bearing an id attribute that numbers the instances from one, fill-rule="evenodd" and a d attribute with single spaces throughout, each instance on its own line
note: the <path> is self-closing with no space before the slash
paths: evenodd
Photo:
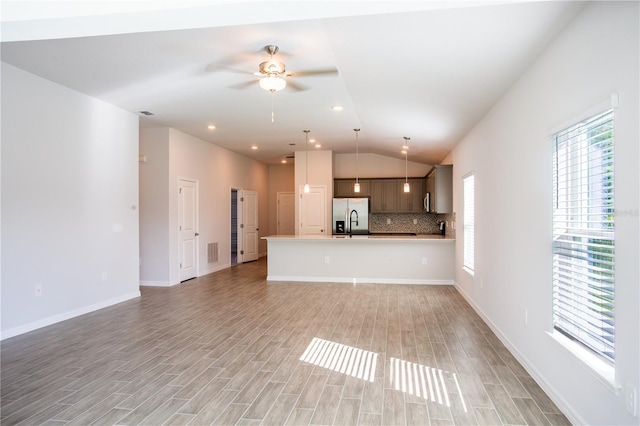
<path id="1" fill-rule="evenodd" d="M 0 422 L 569 424 L 452 286 L 265 278 L 261 259 L 3 341 Z"/>

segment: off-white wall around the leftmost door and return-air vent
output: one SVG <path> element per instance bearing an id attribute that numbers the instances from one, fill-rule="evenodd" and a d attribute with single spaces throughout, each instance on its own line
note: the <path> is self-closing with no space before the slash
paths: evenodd
<path id="1" fill-rule="evenodd" d="M 147 163 L 140 169 L 141 200 L 147 199 L 147 193 L 156 191 L 156 185 L 167 190 L 166 204 L 164 194 L 159 193 L 155 198 L 148 199 L 151 203 L 149 206 L 141 206 L 143 212 L 147 209 L 157 210 L 144 213 L 141 217 L 141 221 L 145 222 L 141 225 L 140 234 L 143 284 L 175 285 L 180 282 L 177 232 L 179 178 L 198 182 L 198 276 L 231 265 L 232 188 L 258 193 L 259 232 L 260 236 L 267 235 L 269 174 L 265 164 L 175 129 L 141 129 L 140 134 L 140 155 L 147 156 Z M 154 166 L 154 161 L 160 162 L 160 165 Z M 150 176 L 145 176 L 146 173 Z M 146 222 L 150 219 L 153 220 L 152 225 Z M 207 244 L 212 242 L 218 243 L 220 255 L 217 263 L 207 264 Z M 152 244 L 161 245 L 161 249 L 145 250 Z M 259 252 L 266 253 L 266 242 L 263 240 L 259 242 Z M 165 253 L 168 256 L 166 263 L 159 260 L 164 258 Z"/>

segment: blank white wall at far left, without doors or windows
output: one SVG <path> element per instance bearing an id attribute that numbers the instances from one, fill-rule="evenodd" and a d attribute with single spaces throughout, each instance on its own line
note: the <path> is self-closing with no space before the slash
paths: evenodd
<path id="1" fill-rule="evenodd" d="M 137 116 L 2 63 L 2 338 L 138 281 Z"/>

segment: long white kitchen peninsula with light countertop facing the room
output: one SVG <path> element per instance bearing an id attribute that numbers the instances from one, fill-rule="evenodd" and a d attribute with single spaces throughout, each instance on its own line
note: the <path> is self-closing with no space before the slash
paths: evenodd
<path id="1" fill-rule="evenodd" d="M 453 284 L 455 239 L 416 236 L 275 235 L 267 281 Z"/>

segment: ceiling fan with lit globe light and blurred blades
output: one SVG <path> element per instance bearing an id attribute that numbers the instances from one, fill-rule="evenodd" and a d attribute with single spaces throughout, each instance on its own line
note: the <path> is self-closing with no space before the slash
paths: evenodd
<path id="1" fill-rule="evenodd" d="M 338 70 L 335 68 L 306 71 L 287 71 L 283 62 L 274 59 L 274 55 L 276 55 L 280 51 L 280 48 L 278 46 L 269 44 L 265 46 L 263 50 L 269 54 L 269 60 L 261 62 L 258 65 L 258 71 L 252 74 L 259 76 L 260 79 L 258 80 L 258 84 L 260 85 L 260 87 L 271 93 L 284 89 L 285 87 L 287 87 L 287 84 L 293 90 L 306 90 L 306 87 L 300 86 L 296 82 L 291 81 L 290 77 L 306 77 L 311 75 L 327 75 L 338 73 Z M 230 71 L 241 72 L 243 74 L 249 74 L 245 71 L 238 71 L 233 68 L 222 68 Z M 207 69 L 210 69 L 210 67 L 207 67 Z M 244 89 L 253 86 L 254 83 L 255 81 L 248 81 L 232 87 L 236 89 Z"/>

